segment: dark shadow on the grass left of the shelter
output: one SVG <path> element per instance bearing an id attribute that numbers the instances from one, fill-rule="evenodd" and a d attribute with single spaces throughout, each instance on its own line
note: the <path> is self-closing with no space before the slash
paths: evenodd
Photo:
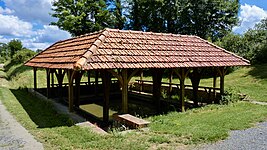
<path id="1" fill-rule="evenodd" d="M 38 128 L 73 125 L 68 116 L 56 112 L 51 102 L 38 99 L 26 89 L 11 89 L 11 92 Z"/>

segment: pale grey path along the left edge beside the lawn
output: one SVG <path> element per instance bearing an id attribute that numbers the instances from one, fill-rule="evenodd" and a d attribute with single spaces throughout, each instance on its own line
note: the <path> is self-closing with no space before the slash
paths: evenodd
<path id="1" fill-rule="evenodd" d="M 3 65 L 0 64 L 0 68 Z M 0 86 L 6 86 L 8 81 L 0 78 Z M 1 150 L 43 150 L 43 145 L 22 127 L 6 110 L 0 99 L 0 149 Z"/>

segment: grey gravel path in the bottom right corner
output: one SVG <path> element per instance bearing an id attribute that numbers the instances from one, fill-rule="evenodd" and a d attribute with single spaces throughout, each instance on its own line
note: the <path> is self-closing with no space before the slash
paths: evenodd
<path id="1" fill-rule="evenodd" d="M 214 144 L 203 145 L 198 150 L 267 150 L 267 121 L 254 128 L 231 131 L 230 137 Z"/>

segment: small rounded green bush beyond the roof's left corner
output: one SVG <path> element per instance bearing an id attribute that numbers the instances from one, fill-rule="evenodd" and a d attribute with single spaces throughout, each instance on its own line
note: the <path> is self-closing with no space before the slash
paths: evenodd
<path id="1" fill-rule="evenodd" d="M 13 56 L 12 62 L 23 63 L 23 62 L 29 60 L 30 58 L 32 58 L 35 54 L 36 54 L 36 52 L 31 51 L 29 49 L 20 50 Z"/>

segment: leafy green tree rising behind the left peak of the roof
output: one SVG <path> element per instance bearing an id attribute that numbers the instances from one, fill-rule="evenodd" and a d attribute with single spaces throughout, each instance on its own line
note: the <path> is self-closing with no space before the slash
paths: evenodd
<path id="1" fill-rule="evenodd" d="M 70 32 L 73 36 L 113 27 L 111 14 L 104 0 L 58 0 L 53 2 L 52 25 Z"/>

